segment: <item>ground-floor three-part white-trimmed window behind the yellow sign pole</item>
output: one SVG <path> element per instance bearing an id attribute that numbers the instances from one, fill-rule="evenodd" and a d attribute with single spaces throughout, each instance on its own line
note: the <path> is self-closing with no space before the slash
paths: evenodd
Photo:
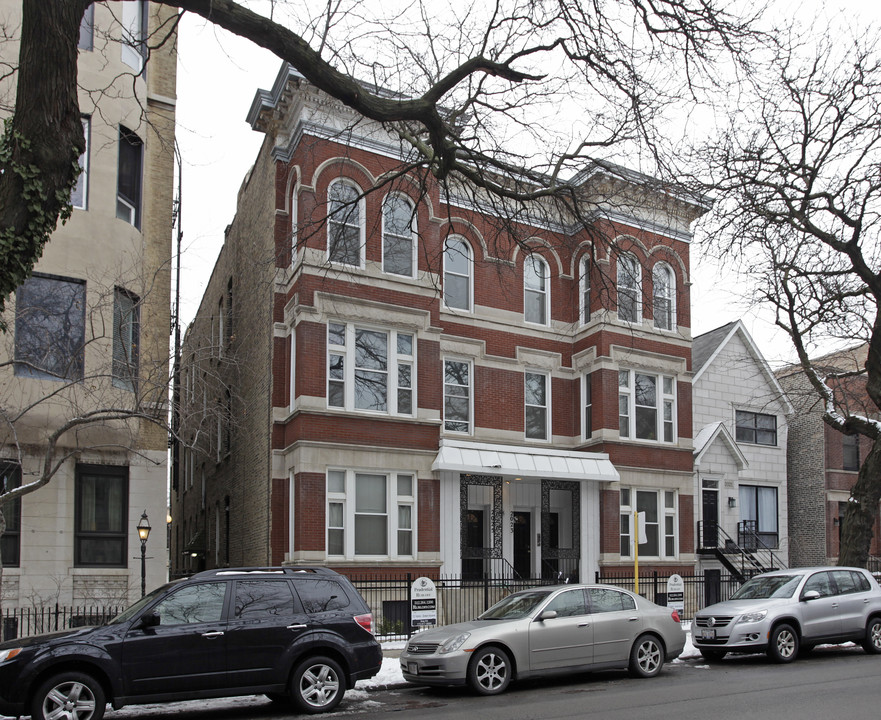
<path id="1" fill-rule="evenodd" d="M 677 493 L 672 490 L 621 488 L 621 557 L 633 557 L 636 538 L 634 512 L 645 513 L 643 531 L 646 542 L 639 546 L 640 558 L 675 558 L 679 531 Z M 642 534 L 642 533 L 641 533 Z"/>

